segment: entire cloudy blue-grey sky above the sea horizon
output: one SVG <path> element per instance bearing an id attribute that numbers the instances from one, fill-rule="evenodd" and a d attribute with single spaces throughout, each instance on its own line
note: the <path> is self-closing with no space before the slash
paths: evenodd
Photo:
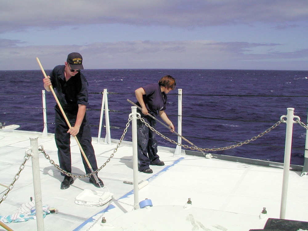
<path id="1" fill-rule="evenodd" d="M 0 70 L 308 70 L 306 0 L 0 0 Z"/>

